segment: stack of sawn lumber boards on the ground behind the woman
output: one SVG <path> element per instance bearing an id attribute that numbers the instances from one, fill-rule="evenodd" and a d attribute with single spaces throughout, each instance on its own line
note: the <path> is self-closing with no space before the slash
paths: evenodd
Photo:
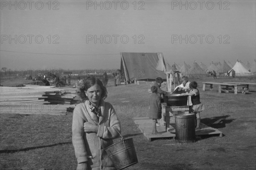
<path id="1" fill-rule="evenodd" d="M 66 114 L 78 103 L 74 88 L 25 85 L 0 87 L 0 113 Z"/>

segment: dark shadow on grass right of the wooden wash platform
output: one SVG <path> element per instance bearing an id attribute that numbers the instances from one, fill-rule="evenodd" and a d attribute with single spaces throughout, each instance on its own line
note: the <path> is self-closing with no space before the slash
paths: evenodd
<path id="1" fill-rule="evenodd" d="M 235 120 L 235 119 L 227 119 L 228 117 L 230 117 L 230 115 L 204 118 L 204 119 L 201 119 L 201 122 L 210 127 L 218 129 L 218 128 L 226 127 L 226 124 L 231 123 L 233 122 L 233 120 Z"/>

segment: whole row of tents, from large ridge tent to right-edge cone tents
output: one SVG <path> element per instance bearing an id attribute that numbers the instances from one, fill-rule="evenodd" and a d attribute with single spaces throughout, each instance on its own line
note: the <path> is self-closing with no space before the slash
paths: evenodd
<path id="1" fill-rule="evenodd" d="M 232 76 L 235 71 L 236 76 L 250 76 L 256 74 L 256 60 L 253 63 L 237 60 L 233 65 L 231 62 L 211 62 L 208 66 L 204 63 L 193 62 L 190 66 L 186 62 L 180 66 L 175 62 L 166 64 L 162 53 L 121 53 L 121 74 L 127 81 L 134 80 L 154 80 L 156 77 L 166 79 L 166 73 L 174 72 L 181 76 L 207 77 L 209 73 L 215 71 L 219 76 Z M 234 72 L 233 72 L 234 73 Z"/>

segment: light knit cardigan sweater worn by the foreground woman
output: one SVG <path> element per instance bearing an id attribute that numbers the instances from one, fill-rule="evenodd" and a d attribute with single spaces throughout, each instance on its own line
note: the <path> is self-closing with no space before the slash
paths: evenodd
<path id="1" fill-rule="evenodd" d="M 104 148 L 113 144 L 121 133 L 120 122 L 113 106 L 101 100 L 101 116 L 90 111 L 89 101 L 80 103 L 73 112 L 72 142 L 78 163 L 86 162 L 92 170 L 115 170 Z M 98 133 L 85 133 L 84 122 L 99 126 Z M 118 132 L 117 132 L 118 131 Z"/>

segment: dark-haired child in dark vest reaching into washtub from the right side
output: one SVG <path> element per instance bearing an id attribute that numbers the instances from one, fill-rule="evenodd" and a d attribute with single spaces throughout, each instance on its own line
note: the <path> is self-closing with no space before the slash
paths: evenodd
<path id="1" fill-rule="evenodd" d="M 197 82 L 191 82 L 189 84 L 189 88 L 192 90 L 190 93 L 183 93 L 181 94 L 182 96 L 187 95 L 191 96 L 191 102 L 192 102 L 192 108 L 191 111 L 195 113 L 195 118 L 196 118 L 196 127 L 195 129 L 200 129 L 200 112 L 204 110 L 203 104 L 200 102 L 200 94 L 197 89 L 198 85 Z"/>

